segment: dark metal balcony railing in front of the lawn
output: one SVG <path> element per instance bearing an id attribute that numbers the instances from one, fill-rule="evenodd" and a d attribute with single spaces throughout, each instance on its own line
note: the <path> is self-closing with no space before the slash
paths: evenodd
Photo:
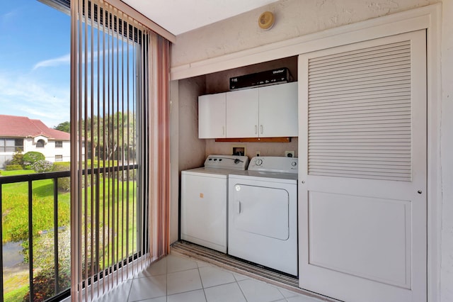
<path id="1" fill-rule="evenodd" d="M 108 175 L 108 173 L 112 172 L 123 172 L 125 173 L 126 171 L 133 171 L 138 169 L 137 164 L 131 164 L 131 165 L 125 165 L 125 166 L 120 166 L 120 167 L 108 167 L 108 168 L 96 168 L 96 169 L 88 169 L 84 171 L 87 174 L 91 174 L 93 172 L 94 175 L 100 175 L 102 176 L 104 173 Z M 33 234 L 36 234 L 33 230 L 33 218 L 34 218 L 34 213 L 33 213 L 33 203 L 37 203 L 39 201 L 34 200 L 34 195 L 33 195 L 33 187 L 34 184 L 36 184 L 37 181 L 42 181 L 42 180 L 48 180 L 51 179 L 53 180 L 53 227 L 51 230 L 45 230 L 45 233 L 52 232 L 54 235 L 54 242 L 53 242 L 53 255 L 54 255 L 54 264 L 53 264 L 53 274 L 55 278 L 55 289 L 54 289 L 54 296 L 52 296 L 50 299 L 46 301 L 59 301 L 62 298 L 65 298 L 69 296 L 70 290 L 69 288 L 67 289 L 61 289 L 59 284 L 59 279 L 60 279 L 60 271 L 59 269 L 60 264 L 59 264 L 59 230 L 62 229 L 62 226 L 59 225 L 59 180 L 64 179 L 65 177 L 69 177 L 70 172 L 69 171 L 62 171 L 62 172 L 45 172 L 45 173 L 37 173 L 37 174 L 22 174 L 22 175 L 15 175 L 15 176 L 6 176 L 6 177 L 0 177 L 0 213 L 4 213 L 4 193 L 6 193 L 6 188 L 5 186 L 8 184 L 16 184 L 16 183 L 27 183 L 28 185 L 28 283 L 29 283 L 29 291 L 30 291 L 30 301 L 33 301 L 33 296 L 34 296 L 34 288 L 35 288 L 35 269 L 36 267 L 33 266 L 34 263 L 34 247 L 33 243 L 35 240 L 35 236 Z M 51 213 L 48 213 L 48 215 L 51 215 Z M 2 222 L 0 223 L 0 236 L 1 236 L 1 241 L 4 242 L 4 219 L 2 215 Z M 65 227 L 63 227 L 65 228 Z M 69 228 L 69 225 L 67 226 Z M 0 249 L 0 261 L 1 261 L 1 267 L 2 267 L 2 274 L 0 274 L 0 292 L 2 295 L 0 296 L 0 301 L 5 301 L 4 298 L 4 252 L 3 248 Z M 133 257 L 133 256 L 128 256 L 128 257 Z M 121 260 L 121 261 L 124 261 Z M 120 262 L 121 263 L 121 262 Z M 116 267 L 120 266 L 121 264 L 113 264 L 110 267 L 110 272 L 112 269 L 114 270 Z M 70 268 L 69 268 L 70 269 Z M 109 269 L 109 268 L 101 268 L 101 269 Z M 102 276 L 102 274 L 101 274 Z M 11 300 L 9 300 L 11 301 Z M 22 300 L 21 300 L 22 301 Z"/>

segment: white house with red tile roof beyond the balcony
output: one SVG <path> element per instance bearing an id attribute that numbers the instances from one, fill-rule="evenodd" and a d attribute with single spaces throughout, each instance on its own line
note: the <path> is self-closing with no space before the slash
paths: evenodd
<path id="1" fill-rule="evenodd" d="M 49 162 L 69 162 L 69 139 L 69 133 L 49 128 L 40 120 L 0 114 L 0 169 L 19 151 L 40 152 Z"/>

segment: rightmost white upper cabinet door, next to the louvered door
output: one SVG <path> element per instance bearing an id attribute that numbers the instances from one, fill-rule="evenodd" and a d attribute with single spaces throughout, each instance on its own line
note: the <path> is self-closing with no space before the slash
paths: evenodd
<path id="1" fill-rule="evenodd" d="M 297 82 L 259 88 L 259 136 L 299 136 Z"/>

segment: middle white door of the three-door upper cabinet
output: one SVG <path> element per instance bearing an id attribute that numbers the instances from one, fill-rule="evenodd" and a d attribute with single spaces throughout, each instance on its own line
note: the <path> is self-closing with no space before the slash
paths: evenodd
<path id="1" fill-rule="evenodd" d="M 226 137 L 258 137 L 258 89 L 226 93 Z"/>

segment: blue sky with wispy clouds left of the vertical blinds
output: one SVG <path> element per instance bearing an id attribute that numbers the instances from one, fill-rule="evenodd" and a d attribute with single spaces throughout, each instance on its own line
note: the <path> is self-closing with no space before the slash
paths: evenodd
<path id="1" fill-rule="evenodd" d="M 1 2 L 0 114 L 69 121 L 69 16 L 38 0 Z"/>

